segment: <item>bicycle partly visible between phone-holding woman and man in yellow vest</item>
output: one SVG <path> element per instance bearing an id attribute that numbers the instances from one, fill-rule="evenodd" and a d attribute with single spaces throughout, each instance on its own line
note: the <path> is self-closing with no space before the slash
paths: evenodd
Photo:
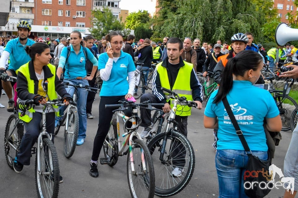
<path id="1" fill-rule="evenodd" d="M 139 97 L 142 96 L 142 94 L 145 93 L 145 90 L 151 89 L 152 86 L 152 78 L 153 78 L 153 71 L 154 69 L 149 68 L 149 69 L 143 69 L 143 65 L 144 63 L 137 63 L 137 65 L 139 65 L 141 67 L 140 70 L 136 70 L 135 75 L 140 75 L 140 79 L 138 81 L 138 85 L 136 85 L 135 90 L 134 90 L 134 94 L 133 97 L 135 99 L 138 99 Z M 147 77 L 147 82 L 145 83 L 145 74 L 143 73 L 144 71 L 147 71 L 146 73 L 149 73 L 151 75 L 148 74 Z M 137 79 L 138 80 L 138 79 Z"/>

